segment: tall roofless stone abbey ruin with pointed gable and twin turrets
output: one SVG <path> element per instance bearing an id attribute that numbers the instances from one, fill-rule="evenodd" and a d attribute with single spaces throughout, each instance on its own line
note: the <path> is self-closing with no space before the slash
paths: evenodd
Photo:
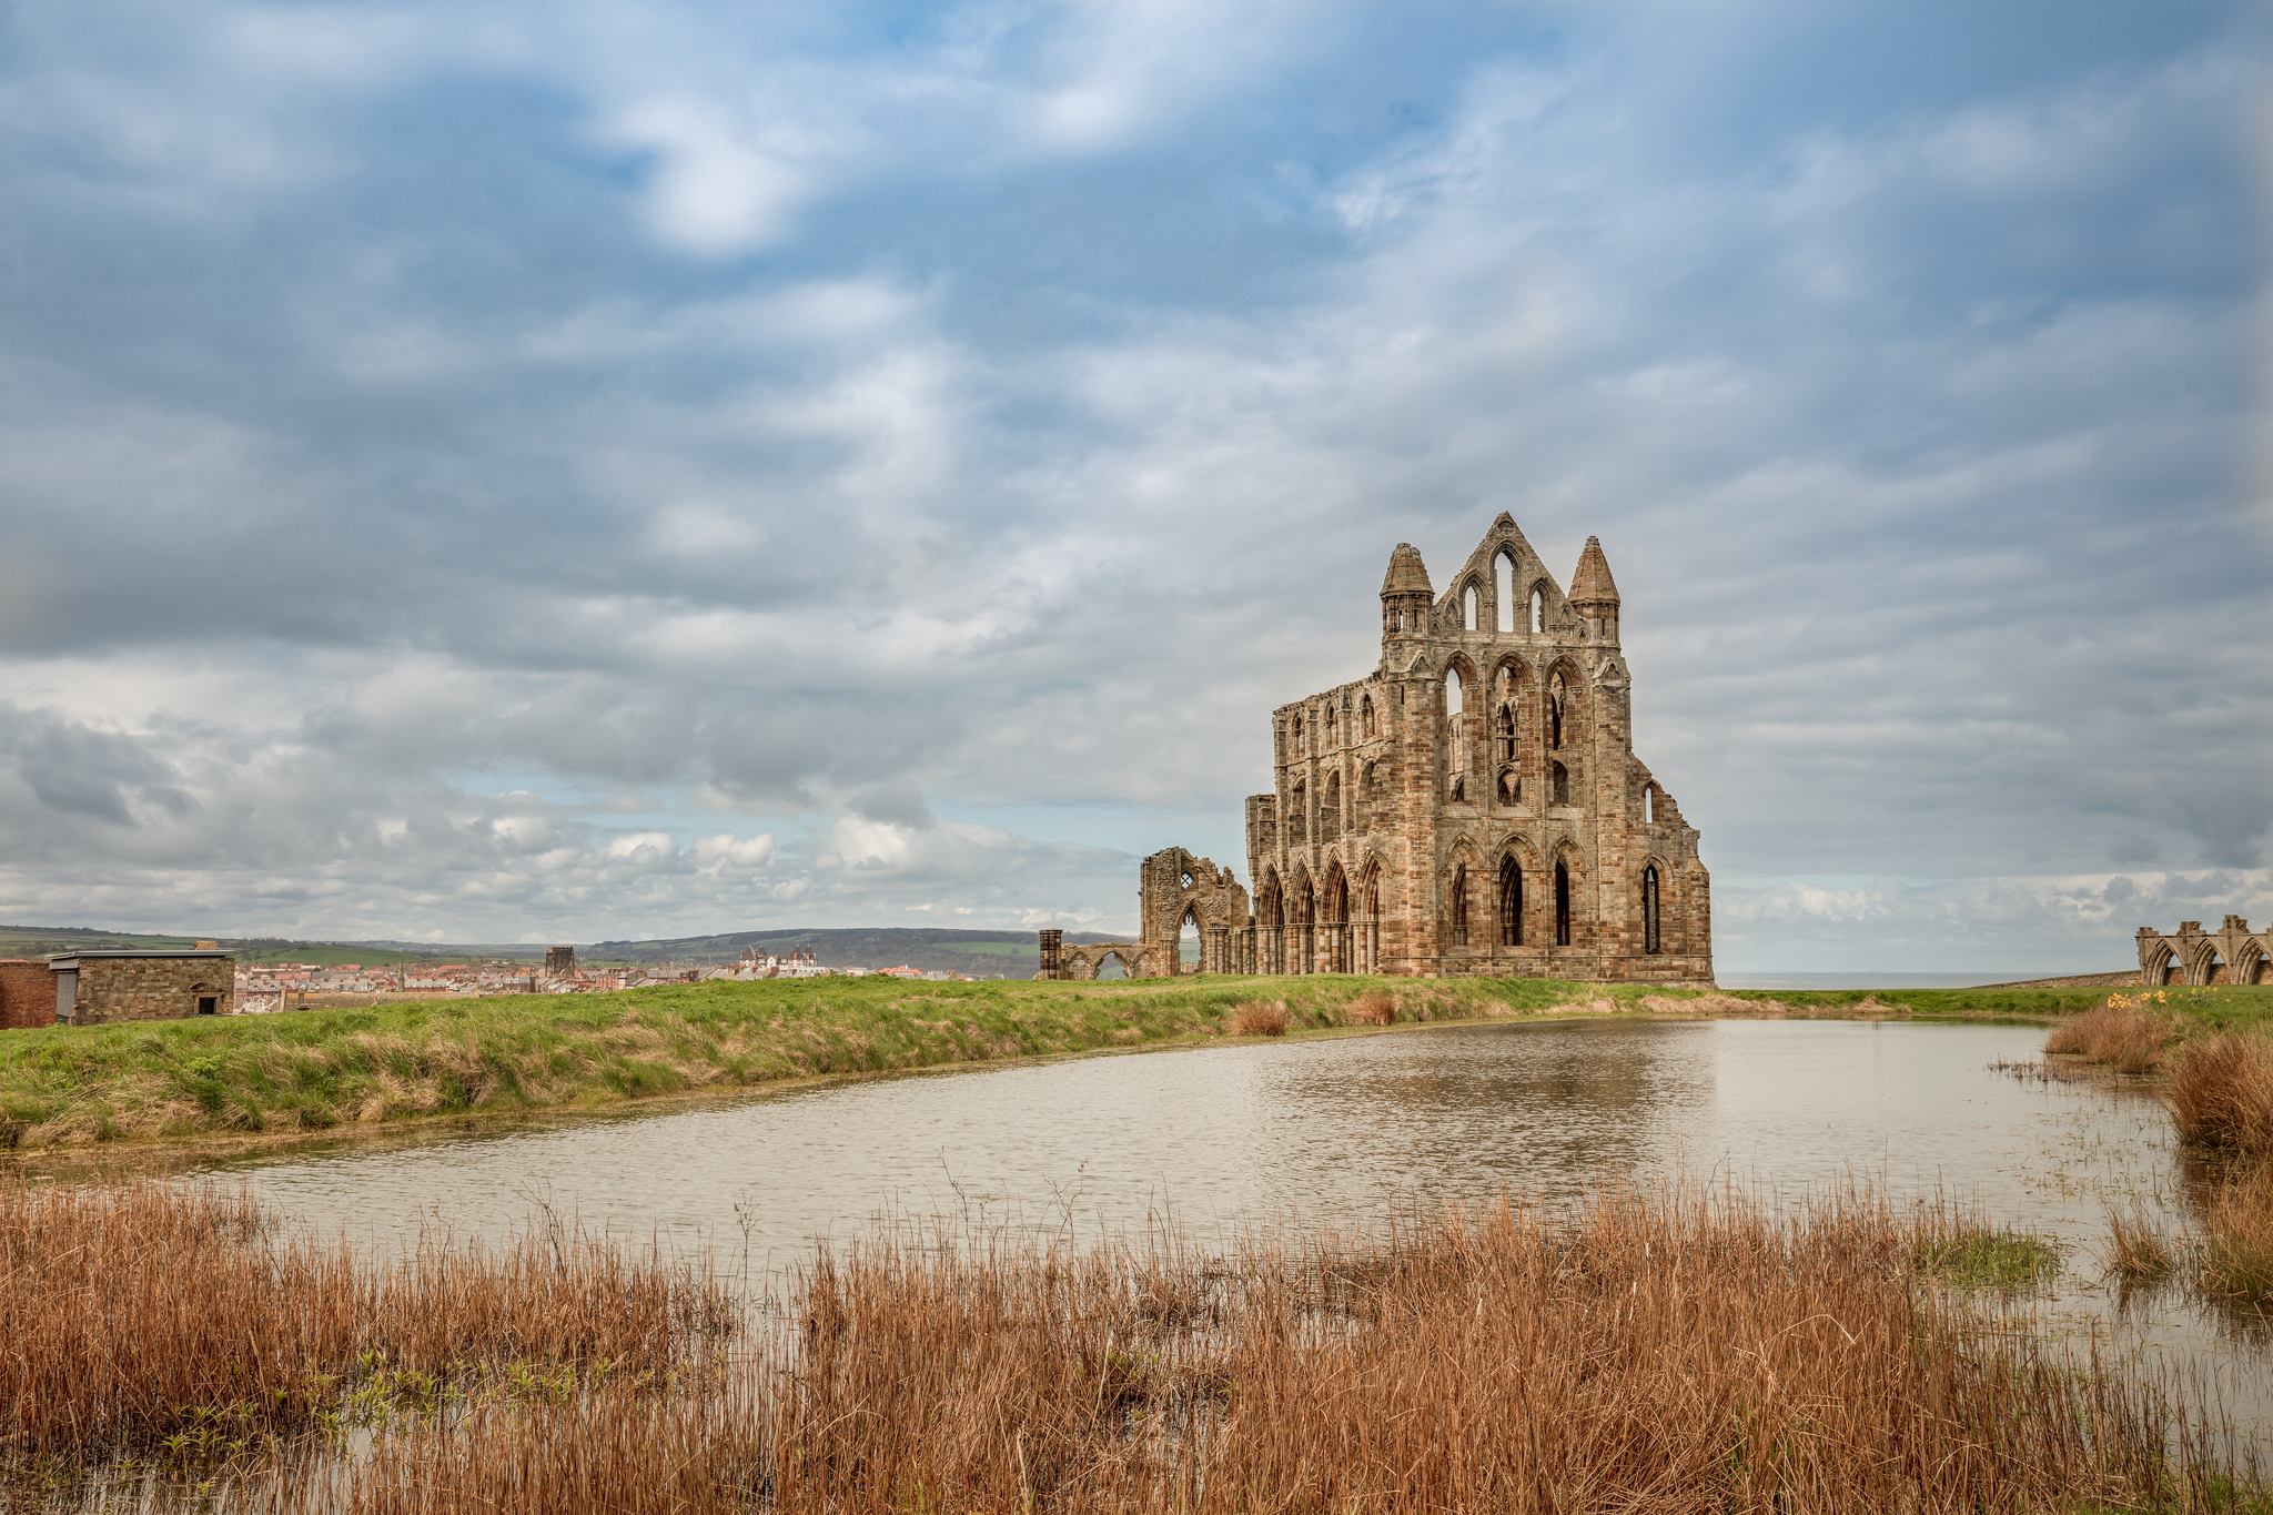
<path id="1" fill-rule="evenodd" d="M 1630 690 L 1596 538 L 1568 595 L 1509 516 L 1443 597 L 1398 543 L 1380 666 L 1271 718 L 1252 970 L 1712 986 L 1698 834 L 1634 759 Z"/>

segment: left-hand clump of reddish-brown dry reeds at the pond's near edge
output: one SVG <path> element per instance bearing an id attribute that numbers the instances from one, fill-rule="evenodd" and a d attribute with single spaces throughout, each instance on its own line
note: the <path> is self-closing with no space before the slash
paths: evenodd
<path id="1" fill-rule="evenodd" d="M 259 1445 L 341 1388 L 452 1363 L 666 1370 L 732 1329 L 691 1265 L 566 1227 L 491 1252 L 421 1240 L 382 1267 L 264 1231 L 241 1192 L 0 1183 L 0 1458 L 95 1460 L 166 1438 Z"/>

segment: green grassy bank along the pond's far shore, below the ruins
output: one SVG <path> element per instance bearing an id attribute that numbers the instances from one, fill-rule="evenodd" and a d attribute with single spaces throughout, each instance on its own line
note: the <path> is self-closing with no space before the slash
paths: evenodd
<path id="1" fill-rule="evenodd" d="M 1227 1036 L 1250 1002 L 1293 1033 L 1352 1020 L 1546 1013 L 2018 1015 L 2105 990 L 1689 993 L 1559 979 L 1139 979 L 907 984 L 773 979 L 618 995 L 434 999 L 284 1015 L 0 1033 L 0 1147 L 270 1140 L 421 1118 L 602 1108 L 793 1079 Z M 1352 1002 L 1371 1008 L 1352 1015 Z M 2257 1022 L 2273 990 L 2198 990 L 2187 1013 Z M 1255 1018 L 1248 1018 L 1255 1022 Z M 1268 1020 L 1268 1018 L 1266 1018 Z"/>

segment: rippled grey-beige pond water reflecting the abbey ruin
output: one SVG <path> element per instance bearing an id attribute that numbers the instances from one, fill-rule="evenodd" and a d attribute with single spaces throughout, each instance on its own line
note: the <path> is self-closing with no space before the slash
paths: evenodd
<path id="1" fill-rule="evenodd" d="M 593 1229 L 802 1256 L 884 1213 L 984 1213 L 1196 1238 L 1359 1220 L 1398 1192 L 1548 1199 L 1612 1177 L 1732 1177 L 1787 1197 L 1871 1179 L 2075 1245 L 2168 1190 L 2153 1099 L 1989 1065 L 2039 1027 L 1546 1022 L 1416 1029 L 807 1088 L 536 1131 L 252 1161 L 270 1208 L 366 1245 L 498 1233 L 536 1204 Z"/>

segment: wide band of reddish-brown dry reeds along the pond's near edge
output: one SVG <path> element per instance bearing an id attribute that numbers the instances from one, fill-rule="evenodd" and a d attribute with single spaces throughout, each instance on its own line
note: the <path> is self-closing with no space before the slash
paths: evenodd
<path id="1" fill-rule="evenodd" d="M 2184 1406 L 1950 1299 L 1866 1195 L 1400 1206 L 1371 1233 L 396 1261 L 227 1190 L 0 1183 L 0 1501 L 473 1515 L 2262 1508 Z M 70 1258 L 70 1267 L 52 1265 Z M 195 1279 L 184 1308 L 182 1279 Z M 1991 1281 L 2003 1286 L 2003 1279 Z M 755 1336 L 755 1340 L 752 1340 Z"/>

